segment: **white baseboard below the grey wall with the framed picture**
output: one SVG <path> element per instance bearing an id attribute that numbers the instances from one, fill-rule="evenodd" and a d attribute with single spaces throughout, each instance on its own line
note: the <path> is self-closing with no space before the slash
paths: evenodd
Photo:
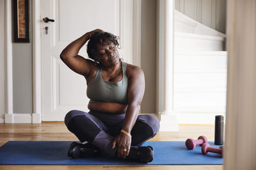
<path id="1" fill-rule="evenodd" d="M 40 124 L 41 115 L 36 113 L 5 114 L 4 123 L 6 124 Z"/>

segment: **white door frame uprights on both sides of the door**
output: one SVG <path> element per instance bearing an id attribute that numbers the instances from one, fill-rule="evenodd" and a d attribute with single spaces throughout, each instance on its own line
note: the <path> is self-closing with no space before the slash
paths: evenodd
<path id="1" fill-rule="evenodd" d="M 33 1 L 33 123 L 42 120 L 40 0 Z M 141 63 L 141 0 L 133 0 L 133 64 Z"/>

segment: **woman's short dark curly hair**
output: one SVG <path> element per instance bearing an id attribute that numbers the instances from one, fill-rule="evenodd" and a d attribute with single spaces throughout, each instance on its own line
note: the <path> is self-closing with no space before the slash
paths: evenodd
<path id="1" fill-rule="evenodd" d="M 118 36 L 111 34 L 110 32 L 94 32 L 90 37 L 87 45 L 88 57 L 99 62 L 99 56 L 97 55 L 97 45 L 108 45 L 114 43 L 115 46 L 119 46 Z"/>

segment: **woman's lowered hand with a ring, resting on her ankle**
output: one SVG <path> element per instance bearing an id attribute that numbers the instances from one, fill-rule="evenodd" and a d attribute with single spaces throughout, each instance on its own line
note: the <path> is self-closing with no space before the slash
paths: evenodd
<path id="1" fill-rule="evenodd" d="M 113 148 L 117 145 L 118 157 L 125 159 L 129 155 L 132 139 L 126 134 L 120 132 L 120 134 L 113 141 Z"/>

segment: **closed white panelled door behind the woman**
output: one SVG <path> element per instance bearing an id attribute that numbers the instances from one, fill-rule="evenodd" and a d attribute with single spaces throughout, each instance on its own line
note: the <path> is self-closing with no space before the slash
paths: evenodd
<path id="1" fill-rule="evenodd" d="M 68 43 L 93 29 L 120 36 L 120 56 L 132 64 L 132 0 L 41 0 L 42 120 L 63 121 L 70 110 L 88 111 L 86 80 L 60 60 Z M 45 27 L 49 27 L 46 34 Z M 79 55 L 87 57 L 86 45 Z"/>

